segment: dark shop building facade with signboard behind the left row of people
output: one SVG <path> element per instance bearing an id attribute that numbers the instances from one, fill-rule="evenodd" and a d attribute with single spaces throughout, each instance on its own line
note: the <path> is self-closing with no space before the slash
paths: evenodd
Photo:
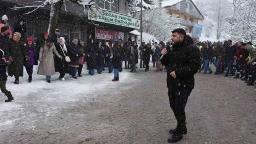
<path id="1" fill-rule="evenodd" d="M 43 38 L 43 33 L 46 33 L 49 27 L 50 6 L 40 7 L 40 9 L 37 9 L 30 14 L 25 13 L 32 11 L 33 8 L 23 8 L 18 10 L 10 9 L 19 6 L 39 5 L 40 2 L 38 1 L 1 0 L 0 18 L 2 15 L 6 14 L 9 18 L 9 25 L 13 31 L 14 23 L 18 22 L 20 17 L 23 17 L 27 26 L 26 36 L 36 36 L 38 39 L 41 39 Z M 78 4 L 66 2 L 66 4 L 62 6 L 59 15 L 59 30 L 65 38 L 69 39 L 69 41 L 72 41 L 74 38 L 87 41 L 89 37 L 92 37 L 93 39 L 98 38 L 98 40 L 107 40 L 106 38 L 115 38 L 116 40 L 117 33 L 120 35 L 120 38 L 126 41 L 130 35 L 129 32 L 137 29 L 137 27 L 133 26 L 135 23 L 130 21 L 138 20 L 140 22 L 140 20 L 127 15 L 129 11 L 127 0 L 115 0 L 112 4 L 109 4 L 109 2 L 105 2 L 104 0 L 95 2 L 99 7 L 106 9 L 104 12 L 101 11 L 100 14 L 108 13 L 117 15 L 117 19 L 114 19 L 116 22 L 111 23 L 108 20 L 100 21 L 99 19 L 90 19 L 91 17 L 88 17 L 92 13 L 90 9 L 84 8 Z M 98 17 L 101 16 L 100 14 L 98 14 Z M 108 17 L 108 15 L 105 15 L 105 17 Z"/>

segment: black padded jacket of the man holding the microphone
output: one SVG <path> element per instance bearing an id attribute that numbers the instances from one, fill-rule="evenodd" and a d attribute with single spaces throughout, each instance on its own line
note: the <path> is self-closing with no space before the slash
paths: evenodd
<path id="1" fill-rule="evenodd" d="M 187 88 L 192 90 L 194 88 L 194 74 L 197 73 L 201 65 L 200 52 L 197 46 L 184 42 L 174 44 L 169 53 L 163 56 L 161 62 L 164 66 L 168 66 L 168 89 Z M 170 73 L 173 71 L 177 78 L 171 77 Z"/>

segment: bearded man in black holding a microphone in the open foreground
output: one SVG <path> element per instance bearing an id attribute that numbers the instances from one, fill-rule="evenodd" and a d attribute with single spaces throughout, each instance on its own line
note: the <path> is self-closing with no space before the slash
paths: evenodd
<path id="1" fill-rule="evenodd" d="M 181 140 L 182 134 L 187 133 L 185 106 L 187 99 L 194 88 L 194 74 L 200 69 L 201 59 L 197 46 L 192 44 L 190 36 L 185 30 L 173 30 L 171 40 L 173 48 L 161 51 L 161 62 L 168 66 L 167 87 L 169 103 L 177 120 L 176 129 L 169 130 L 173 134 L 168 142 L 174 143 Z"/>

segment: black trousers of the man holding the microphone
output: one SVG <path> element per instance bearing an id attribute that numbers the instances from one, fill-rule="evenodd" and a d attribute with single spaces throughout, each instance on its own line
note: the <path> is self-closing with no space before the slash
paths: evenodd
<path id="1" fill-rule="evenodd" d="M 168 89 L 169 103 L 177 120 L 177 133 L 186 129 L 185 107 L 192 89 L 176 88 Z"/>

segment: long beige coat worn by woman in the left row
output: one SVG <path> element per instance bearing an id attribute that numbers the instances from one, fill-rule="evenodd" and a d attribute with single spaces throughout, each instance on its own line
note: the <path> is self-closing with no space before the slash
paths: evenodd
<path id="1" fill-rule="evenodd" d="M 51 43 L 51 48 L 48 48 L 46 44 L 40 48 L 40 53 L 39 53 L 40 64 L 37 71 L 38 75 L 54 75 L 55 74 L 53 53 L 56 54 L 56 56 L 60 57 L 53 43 Z"/>

